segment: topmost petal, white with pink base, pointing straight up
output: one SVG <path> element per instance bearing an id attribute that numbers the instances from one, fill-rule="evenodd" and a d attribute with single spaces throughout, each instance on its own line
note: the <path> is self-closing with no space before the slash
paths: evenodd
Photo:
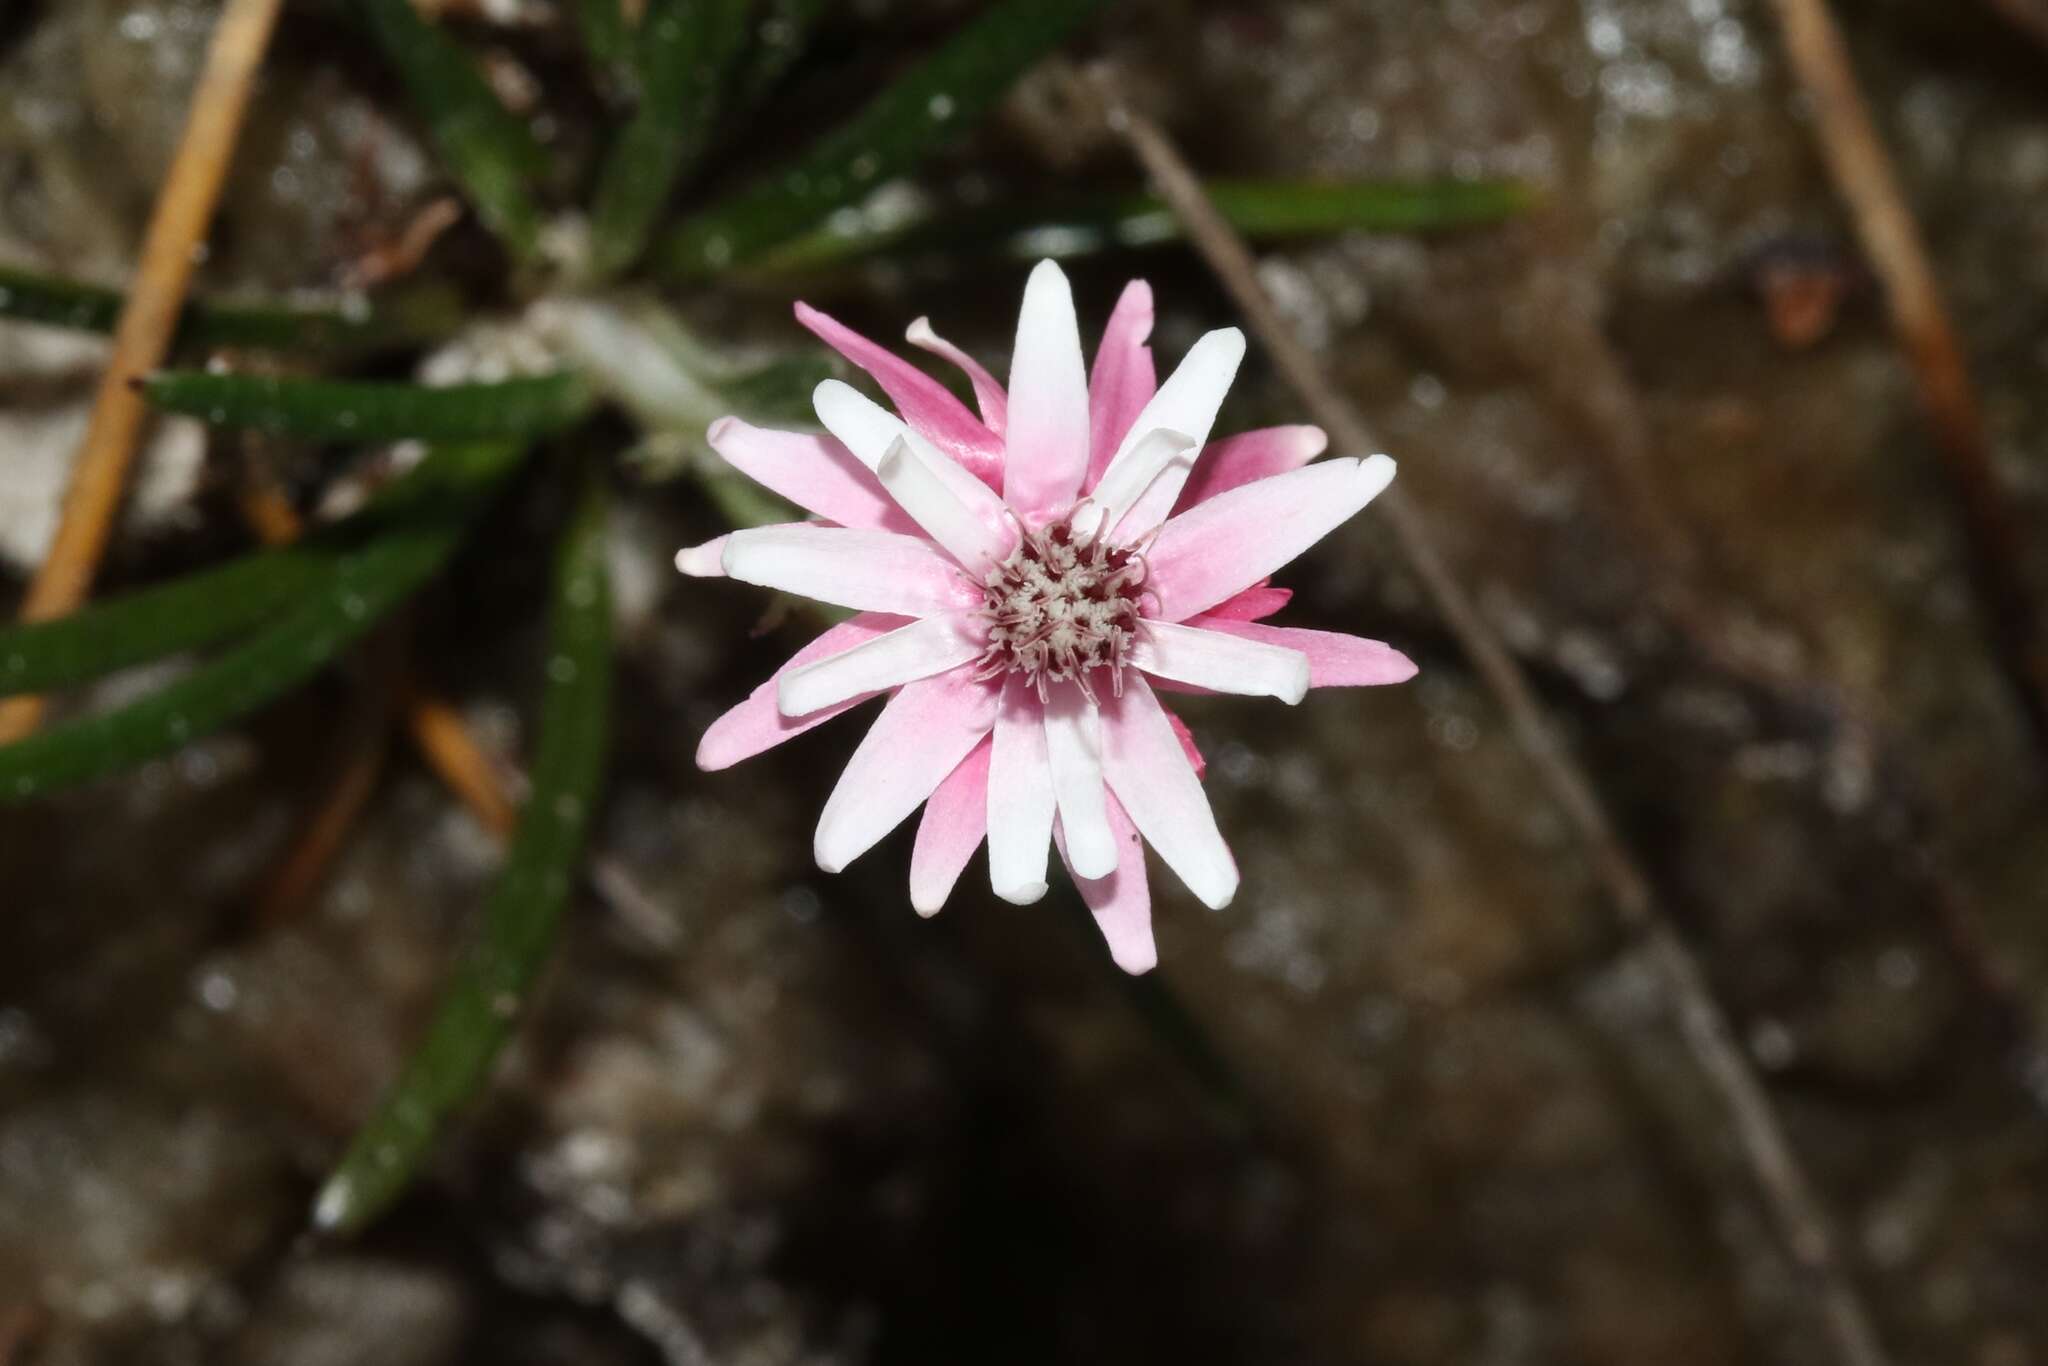
<path id="1" fill-rule="evenodd" d="M 1010 356 L 1004 502 L 1032 522 L 1065 512 L 1087 475 L 1087 369 L 1073 289 L 1040 260 L 1024 285 Z"/>

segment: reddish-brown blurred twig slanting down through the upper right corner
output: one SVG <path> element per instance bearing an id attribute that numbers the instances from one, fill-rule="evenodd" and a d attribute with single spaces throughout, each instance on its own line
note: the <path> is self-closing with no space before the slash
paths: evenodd
<path id="1" fill-rule="evenodd" d="M 1950 492 L 1962 512 L 1964 549 L 1985 625 L 2048 760 L 2048 627 L 2028 590 L 2023 532 L 1991 465 L 1985 416 L 1962 340 L 1827 0 L 1772 4 L 1784 29 L 1786 55 L 1812 100 L 1821 156 L 1849 207 L 1864 254 L 1884 281 L 1892 332 L 1913 367 Z"/>

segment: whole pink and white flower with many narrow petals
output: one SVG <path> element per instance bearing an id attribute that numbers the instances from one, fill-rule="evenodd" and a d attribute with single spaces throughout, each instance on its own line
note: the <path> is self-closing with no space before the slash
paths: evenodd
<path id="1" fill-rule="evenodd" d="M 983 840 L 995 895 L 1018 903 L 1044 895 L 1057 846 L 1116 963 L 1151 969 L 1141 838 L 1206 905 L 1237 893 L 1202 758 L 1155 684 L 1292 705 L 1309 688 L 1411 678 L 1378 641 L 1264 625 L 1288 600 L 1268 575 L 1372 502 L 1395 463 L 1311 465 L 1327 444 L 1313 426 L 1212 442 L 1245 338 L 1210 332 L 1155 383 L 1143 281 L 1087 371 L 1067 276 L 1032 270 L 1008 391 L 911 324 L 913 346 L 967 373 L 979 418 L 831 317 L 805 305 L 797 317 L 897 412 L 827 381 L 825 434 L 715 422 L 727 463 L 817 520 L 735 530 L 676 565 L 858 616 L 719 717 L 698 766 L 727 768 L 887 694 L 825 801 L 819 866 L 838 872 L 924 805 L 909 895 L 932 915 Z"/>

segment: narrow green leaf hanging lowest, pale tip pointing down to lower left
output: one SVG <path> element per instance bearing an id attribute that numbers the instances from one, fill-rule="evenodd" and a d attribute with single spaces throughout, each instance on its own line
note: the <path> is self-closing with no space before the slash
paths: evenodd
<path id="1" fill-rule="evenodd" d="M 483 1087 L 547 963 L 604 768 L 610 616 L 604 485 L 592 477 L 555 557 L 532 797 L 483 907 L 481 938 L 442 987 L 426 1036 L 313 1204 L 313 1225 L 324 1231 L 352 1233 L 406 1190 L 449 1116 Z"/>

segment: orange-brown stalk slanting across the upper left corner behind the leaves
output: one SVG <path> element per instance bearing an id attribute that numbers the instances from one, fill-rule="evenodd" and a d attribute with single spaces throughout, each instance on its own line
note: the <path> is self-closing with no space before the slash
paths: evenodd
<path id="1" fill-rule="evenodd" d="M 135 381 L 156 369 L 170 346 L 279 6 L 281 0 L 229 0 L 213 31 L 184 139 L 156 199 L 135 283 L 115 330 L 113 356 L 78 446 L 57 537 L 23 600 L 25 621 L 63 616 L 92 592 L 135 463 L 143 420 Z M 41 715 L 43 700 L 35 696 L 0 705 L 0 743 L 33 731 Z"/>

